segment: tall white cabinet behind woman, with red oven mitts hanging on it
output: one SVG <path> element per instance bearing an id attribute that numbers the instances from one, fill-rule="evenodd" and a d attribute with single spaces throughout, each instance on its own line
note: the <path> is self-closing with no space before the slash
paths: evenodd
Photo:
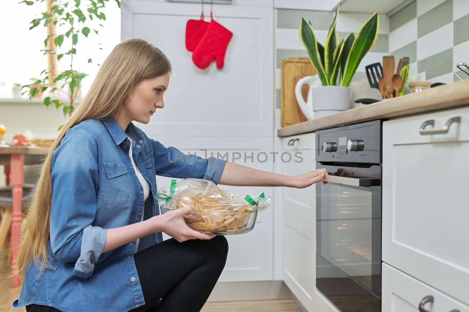
<path id="1" fill-rule="evenodd" d="M 216 2 L 216 1 L 215 1 Z M 208 3 L 208 5 L 207 5 Z M 204 7 L 210 22 L 210 2 Z M 230 162 L 273 171 L 273 0 L 234 0 L 213 4 L 213 18 L 233 32 L 222 69 L 215 61 L 202 70 L 185 47 L 186 23 L 200 18 L 201 5 L 175 1 L 121 1 L 121 40 L 142 38 L 163 51 L 172 74 L 164 109 L 148 124 L 137 124 L 163 145 L 205 158 L 229 153 Z M 265 152 L 257 159 L 258 153 Z M 238 153 L 242 159 L 233 160 Z M 254 160 L 244 160 L 244 153 Z M 236 154 L 236 155 L 238 155 Z M 158 187 L 170 177 L 157 177 Z M 224 189 L 223 185 L 220 185 Z M 253 198 L 273 188 L 226 187 Z M 254 229 L 227 236 L 229 251 L 219 282 L 270 281 L 273 278 L 273 211 L 258 214 Z M 165 236 L 167 238 L 167 236 Z"/>

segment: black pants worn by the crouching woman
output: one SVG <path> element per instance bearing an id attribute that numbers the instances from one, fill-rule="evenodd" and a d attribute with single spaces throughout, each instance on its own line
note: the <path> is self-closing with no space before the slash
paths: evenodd
<path id="1" fill-rule="evenodd" d="M 145 305 L 132 311 L 200 311 L 225 267 L 227 254 L 228 242 L 224 236 L 182 243 L 167 239 L 137 252 L 134 261 Z M 59 310 L 45 305 L 27 305 L 26 311 Z"/>

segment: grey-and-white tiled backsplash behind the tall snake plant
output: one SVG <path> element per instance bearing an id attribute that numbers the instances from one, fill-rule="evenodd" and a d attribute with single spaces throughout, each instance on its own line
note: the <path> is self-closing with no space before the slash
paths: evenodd
<path id="1" fill-rule="evenodd" d="M 336 29 L 342 40 L 350 31 L 357 33 L 371 14 L 340 12 Z M 333 21 L 333 12 L 314 10 L 275 10 L 275 100 L 276 108 L 280 109 L 280 63 L 284 58 L 306 58 L 307 54 L 300 40 L 299 25 L 304 17 L 311 22 L 314 32 L 321 44 L 325 44 L 329 26 Z M 386 15 L 379 16 L 378 39 L 358 66 L 352 81 L 366 79 L 365 66 L 381 62 L 383 56 L 389 54 L 389 19 Z"/>

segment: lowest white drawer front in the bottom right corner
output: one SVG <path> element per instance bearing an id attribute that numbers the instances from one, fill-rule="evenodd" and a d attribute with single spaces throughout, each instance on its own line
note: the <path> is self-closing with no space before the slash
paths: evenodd
<path id="1" fill-rule="evenodd" d="M 469 312 L 469 306 L 386 263 L 382 274 L 382 312 Z M 420 305 L 425 310 L 419 310 Z"/>

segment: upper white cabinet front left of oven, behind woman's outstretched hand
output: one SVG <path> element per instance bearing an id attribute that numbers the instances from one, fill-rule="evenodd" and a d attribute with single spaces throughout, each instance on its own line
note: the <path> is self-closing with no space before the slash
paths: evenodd
<path id="1" fill-rule="evenodd" d="M 316 136 L 306 133 L 282 139 L 283 174 L 294 176 L 316 169 Z M 287 161 L 290 160 L 290 161 Z M 316 185 L 305 189 L 285 188 L 283 210 L 306 221 L 316 224 Z"/>

